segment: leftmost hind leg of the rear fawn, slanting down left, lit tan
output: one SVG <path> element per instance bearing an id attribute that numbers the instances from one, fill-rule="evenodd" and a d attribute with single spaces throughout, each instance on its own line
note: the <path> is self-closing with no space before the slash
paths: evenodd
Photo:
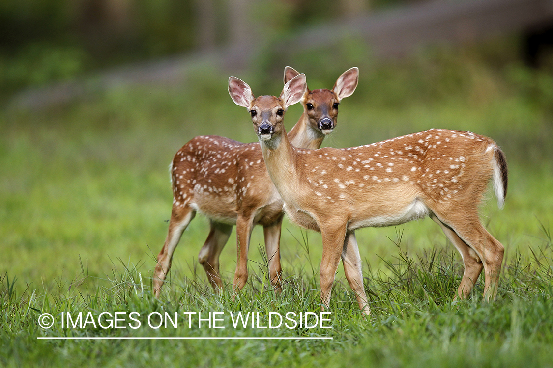
<path id="1" fill-rule="evenodd" d="M 154 271 L 154 294 L 159 297 L 163 281 L 171 268 L 171 260 L 177 244 L 179 244 L 182 232 L 186 229 L 192 218 L 196 215 L 196 211 L 189 205 L 175 206 L 171 212 L 171 220 L 169 222 L 169 231 L 165 244 L 158 254 L 158 262 Z"/>

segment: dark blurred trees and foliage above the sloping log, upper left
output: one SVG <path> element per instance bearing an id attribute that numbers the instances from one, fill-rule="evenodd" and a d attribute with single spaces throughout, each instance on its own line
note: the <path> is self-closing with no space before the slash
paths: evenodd
<path id="1" fill-rule="evenodd" d="M 96 68 L 277 38 L 401 0 L 0 2 L 2 93 Z"/>

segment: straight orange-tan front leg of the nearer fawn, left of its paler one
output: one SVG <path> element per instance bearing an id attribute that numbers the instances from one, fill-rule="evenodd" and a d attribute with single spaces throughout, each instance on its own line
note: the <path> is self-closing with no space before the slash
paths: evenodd
<path id="1" fill-rule="evenodd" d="M 330 307 L 330 293 L 336 276 L 336 270 L 340 263 L 340 256 L 346 237 L 346 226 L 347 223 L 343 222 L 341 227 L 321 227 L 322 260 L 319 278 L 323 310 Z"/>

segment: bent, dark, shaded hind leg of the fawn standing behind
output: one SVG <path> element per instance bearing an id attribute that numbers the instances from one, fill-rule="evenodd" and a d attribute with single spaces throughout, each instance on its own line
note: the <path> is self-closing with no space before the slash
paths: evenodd
<path id="1" fill-rule="evenodd" d="M 210 281 L 213 289 L 221 289 L 223 282 L 219 274 L 219 255 L 231 236 L 232 225 L 210 221 L 210 227 L 210 233 L 200 250 L 198 261 L 204 266 L 207 279 Z"/>

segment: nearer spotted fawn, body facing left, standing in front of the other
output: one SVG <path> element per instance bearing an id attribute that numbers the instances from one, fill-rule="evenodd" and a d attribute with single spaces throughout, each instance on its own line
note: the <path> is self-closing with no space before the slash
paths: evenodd
<path id="1" fill-rule="evenodd" d="M 330 308 L 332 284 L 342 259 L 359 308 L 370 315 L 355 231 L 396 226 L 430 217 L 461 254 L 464 271 L 455 298 L 466 298 L 484 270 L 483 296 L 494 299 L 504 247 L 483 226 L 478 205 L 493 182 L 499 208 L 507 194 L 505 154 L 491 138 L 430 129 L 349 148 L 296 148 L 283 111 L 303 94 L 305 76 L 284 86 L 280 97 L 254 98 L 230 77 L 232 100 L 252 117 L 270 178 L 291 222 L 321 233 L 321 307 Z"/>

